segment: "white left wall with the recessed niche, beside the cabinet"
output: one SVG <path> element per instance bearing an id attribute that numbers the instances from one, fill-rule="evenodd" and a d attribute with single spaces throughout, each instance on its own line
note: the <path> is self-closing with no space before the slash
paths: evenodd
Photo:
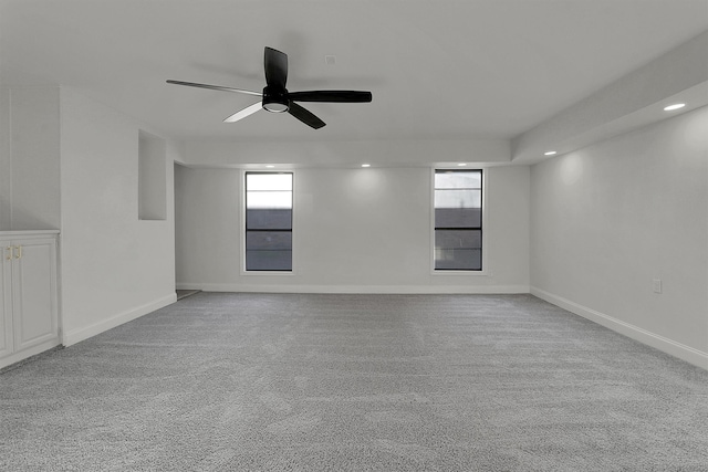
<path id="1" fill-rule="evenodd" d="M 139 128 L 131 118 L 62 88 L 61 294 L 66 345 L 175 300 L 171 186 L 167 220 L 139 221 Z M 167 159 L 176 158 L 168 143 Z M 171 164 L 166 171 L 171 182 Z"/>

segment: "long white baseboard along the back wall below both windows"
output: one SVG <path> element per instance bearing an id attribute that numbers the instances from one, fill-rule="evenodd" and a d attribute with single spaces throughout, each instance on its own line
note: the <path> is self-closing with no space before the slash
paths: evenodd
<path id="1" fill-rule="evenodd" d="M 256 293 L 361 293 L 361 294 L 502 294 L 529 293 L 528 285 L 241 285 L 178 283 L 177 290 Z"/>

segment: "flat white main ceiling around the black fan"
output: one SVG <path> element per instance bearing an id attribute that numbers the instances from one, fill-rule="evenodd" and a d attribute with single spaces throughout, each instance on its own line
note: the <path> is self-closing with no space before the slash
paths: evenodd
<path id="1" fill-rule="evenodd" d="M 511 138 L 708 29 L 708 0 L 0 0 L 0 83 L 64 85 L 181 139 Z M 221 120 L 261 91 L 368 90 Z M 335 55 L 327 65 L 325 55 Z"/>

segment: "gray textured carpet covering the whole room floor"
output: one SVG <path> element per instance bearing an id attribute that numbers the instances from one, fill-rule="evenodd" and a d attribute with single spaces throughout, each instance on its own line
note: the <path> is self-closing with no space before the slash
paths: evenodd
<path id="1" fill-rule="evenodd" d="M 707 471 L 708 373 L 531 295 L 199 293 L 0 375 L 3 471 Z"/>

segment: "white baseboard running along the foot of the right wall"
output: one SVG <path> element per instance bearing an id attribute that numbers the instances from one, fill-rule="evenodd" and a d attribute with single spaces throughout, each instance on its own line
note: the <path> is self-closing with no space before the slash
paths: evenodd
<path id="1" fill-rule="evenodd" d="M 579 305 L 568 298 L 563 298 L 562 296 L 554 295 L 534 286 L 531 287 L 531 294 L 616 333 L 708 370 L 708 353 L 677 343 L 673 339 L 648 332 L 629 323 L 625 323 L 586 306 Z"/>

